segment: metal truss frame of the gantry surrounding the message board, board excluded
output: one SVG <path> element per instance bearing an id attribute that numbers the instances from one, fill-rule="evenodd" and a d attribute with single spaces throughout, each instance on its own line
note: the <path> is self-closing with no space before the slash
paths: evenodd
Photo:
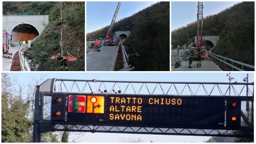
<path id="1" fill-rule="evenodd" d="M 150 82 L 150 81 L 99 81 L 81 79 L 47 79 L 36 86 L 34 142 L 40 142 L 40 134 L 49 131 L 136 133 L 158 135 L 192 135 L 243 137 L 245 131 L 253 135 L 253 93 L 254 82 Z M 44 101 L 53 93 L 73 94 L 136 94 L 175 96 L 237 96 L 242 99 L 241 127 L 239 128 L 160 128 L 118 127 L 115 125 L 76 125 L 52 122 L 43 116 Z"/>

